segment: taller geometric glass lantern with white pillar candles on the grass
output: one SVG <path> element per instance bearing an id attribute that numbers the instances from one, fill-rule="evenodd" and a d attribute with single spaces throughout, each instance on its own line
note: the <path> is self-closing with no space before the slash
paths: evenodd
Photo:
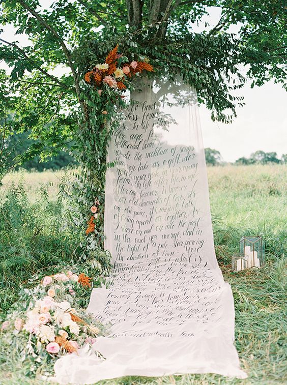
<path id="1" fill-rule="evenodd" d="M 265 245 L 261 236 L 243 236 L 240 254 L 247 259 L 247 269 L 261 268 L 265 263 Z"/>

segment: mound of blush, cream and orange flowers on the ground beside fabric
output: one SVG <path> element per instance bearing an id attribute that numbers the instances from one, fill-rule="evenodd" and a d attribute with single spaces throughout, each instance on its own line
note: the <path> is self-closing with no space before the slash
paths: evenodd
<path id="1" fill-rule="evenodd" d="M 44 363 L 92 346 L 103 327 L 78 306 L 83 290 L 92 288 L 92 278 L 72 271 L 45 276 L 32 289 L 22 289 L 21 301 L 8 314 L 1 326 L 1 339 L 10 349 L 20 350 L 35 373 Z M 90 290 L 89 290 L 90 291 Z M 100 353 L 98 353 L 100 357 Z"/>

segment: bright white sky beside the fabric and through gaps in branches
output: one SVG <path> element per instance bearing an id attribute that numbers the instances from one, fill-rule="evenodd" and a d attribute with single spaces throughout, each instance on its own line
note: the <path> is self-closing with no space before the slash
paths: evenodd
<path id="1" fill-rule="evenodd" d="M 218 8 L 212 7 L 207 19 L 211 27 L 219 17 Z M 202 25 L 194 26 L 194 31 L 200 32 Z M 236 27 L 232 32 L 236 32 Z M 15 29 L 11 26 L 5 26 L 1 38 L 9 42 L 17 40 L 21 46 L 28 45 L 27 37 L 15 36 Z M 0 63 L 0 67 L 6 68 L 3 63 Z M 200 106 L 204 146 L 220 151 L 223 160 L 227 162 L 233 162 L 242 156 L 249 157 L 256 150 L 275 151 L 279 157 L 286 154 L 287 93 L 283 88 L 270 81 L 251 89 L 249 82 L 237 95 L 244 96 L 246 105 L 238 108 L 238 116 L 232 124 L 212 122 L 210 111 L 205 106 Z"/>

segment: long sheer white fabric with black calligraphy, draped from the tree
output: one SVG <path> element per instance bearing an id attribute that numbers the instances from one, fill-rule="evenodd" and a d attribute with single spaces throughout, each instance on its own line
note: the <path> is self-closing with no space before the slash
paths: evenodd
<path id="1" fill-rule="evenodd" d="M 124 375 L 219 373 L 245 378 L 234 346 L 234 303 L 214 252 L 196 94 L 145 80 L 113 134 L 105 234 L 113 283 L 88 311 L 111 325 L 95 348 L 55 364 L 62 383 Z"/>

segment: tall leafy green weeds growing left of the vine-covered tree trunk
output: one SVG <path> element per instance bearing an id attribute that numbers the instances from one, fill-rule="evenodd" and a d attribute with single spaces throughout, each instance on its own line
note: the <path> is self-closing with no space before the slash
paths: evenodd
<path id="1" fill-rule="evenodd" d="M 75 270 L 85 262 L 82 272 L 93 269 L 94 276 L 108 274 L 109 255 L 97 249 L 91 255 L 85 253 L 84 232 L 69 221 L 63 200 L 49 200 L 44 187 L 38 194 L 37 202 L 31 204 L 23 185 L 12 185 L 0 202 L 2 312 L 16 300 L 19 285 L 36 272 L 40 276 L 52 274 L 59 266 L 68 269 L 70 265 Z M 87 300 L 83 298 L 83 306 Z"/>

